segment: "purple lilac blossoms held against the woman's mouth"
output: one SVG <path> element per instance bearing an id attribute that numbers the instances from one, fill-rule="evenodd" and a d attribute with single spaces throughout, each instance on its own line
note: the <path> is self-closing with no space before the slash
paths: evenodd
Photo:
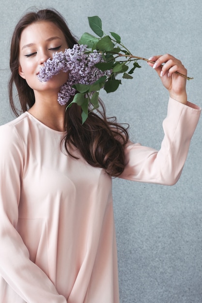
<path id="1" fill-rule="evenodd" d="M 40 68 L 38 78 L 41 82 L 46 82 L 60 71 L 69 72 L 68 81 L 61 86 L 58 94 L 58 102 L 64 105 L 76 93 L 72 87 L 74 84 L 93 84 L 101 76 L 106 75 L 107 72 L 102 72 L 94 66 L 102 61 L 102 55 L 97 50 L 88 53 L 85 45 L 74 45 L 64 52 L 53 54 L 53 59 L 48 59 Z"/>

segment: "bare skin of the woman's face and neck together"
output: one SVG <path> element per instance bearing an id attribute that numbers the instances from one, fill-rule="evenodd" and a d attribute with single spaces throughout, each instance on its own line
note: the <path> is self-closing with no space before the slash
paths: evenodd
<path id="1" fill-rule="evenodd" d="M 40 82 L 39 69 L 56 51 L 68 48 L 62 31 L 52 22 L 33 23 L 22 31 L 20 38 L 19 75 L 33 89 L 35 104 L 29 112 L 39 121 L 57 131 L 64 131 L 65 106 L 58 99 L 60 87 L 68 79 L 61 72 L 47 82 Z"/>

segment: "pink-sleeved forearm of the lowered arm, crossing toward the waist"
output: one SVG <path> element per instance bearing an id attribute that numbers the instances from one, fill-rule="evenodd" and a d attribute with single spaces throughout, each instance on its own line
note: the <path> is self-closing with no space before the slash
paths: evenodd
<path id="1" fill-rule="evenodd" d="M 10 288 L 25 302 L 66 303 L 46 273 L 31 262 L 20 235 L 2 215 L 0 231 L 0 275 L 8 284 L 6 296 L 9 298 Z"/>

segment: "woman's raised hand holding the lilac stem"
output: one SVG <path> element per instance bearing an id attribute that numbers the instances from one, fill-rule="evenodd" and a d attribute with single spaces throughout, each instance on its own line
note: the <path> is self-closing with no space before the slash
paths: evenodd
<path id="1" fill-rule="evenodd" d="M 184 75 L 187 74 L 186 68 L 182 62 L 169 54 L 153 56 L 149 60 L 155 61 L 155 64 L 150 62 L 148 62 L 148 64 L 152 66 L 156 70 L 158 76 L 161 77 L 161 81 L 169 91 L 170 97 L 186 104 L 186 79 L 175 74 L 175 72 L 179 72 Z"/>

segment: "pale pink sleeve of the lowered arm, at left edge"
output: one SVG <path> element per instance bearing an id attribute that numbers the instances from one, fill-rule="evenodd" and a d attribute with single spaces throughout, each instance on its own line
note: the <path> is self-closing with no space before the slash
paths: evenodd
<path id="1" fill-rule="evenodd" d="M 24 157 L 24 144 L 16 129 L 1 126 L 0 302 L 66 303 L 47 275 L 30 260 L 29 251 L 16 230 Z M 3 283 L 12 288 L 10 295 Z"/>

